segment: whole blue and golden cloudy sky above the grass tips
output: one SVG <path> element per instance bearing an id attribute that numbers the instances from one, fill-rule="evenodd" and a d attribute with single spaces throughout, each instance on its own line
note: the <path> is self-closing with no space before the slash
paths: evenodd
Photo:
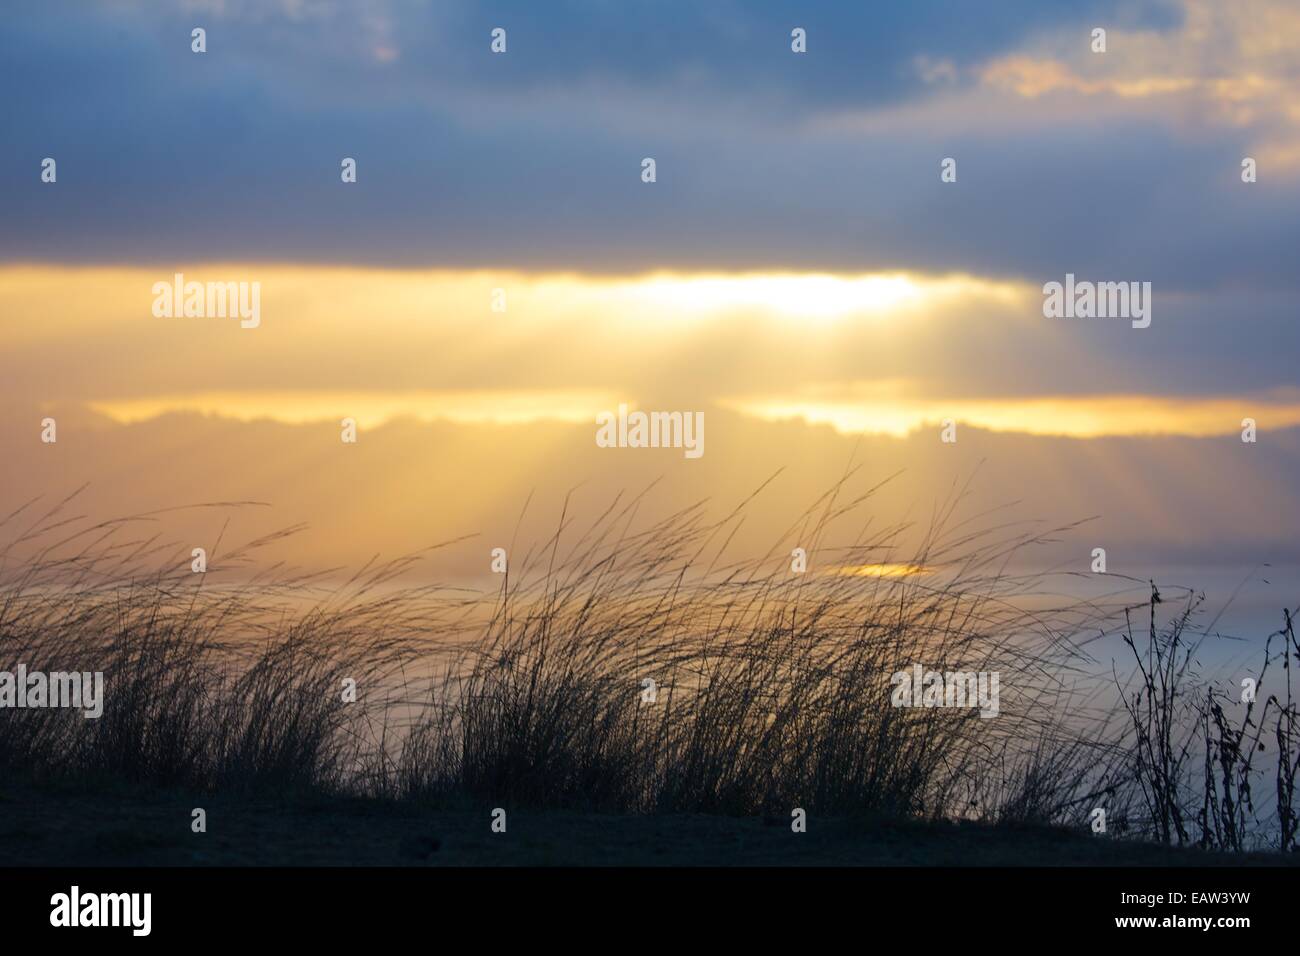
<path id="1" fill-rule="evenodd" d="M 265 502 L 240 529 L 308 524 L 307 564 L 477 533 L 455 578 L 529 494 L 780 470 L 758 546 L 855 464 L 885 522 L 971 475 L 1093 519 L 1053 567 L 1297 563 L 1297 49 L 1287 0 L 31 5 L 0 494 Z M 156 315 L 177 273 L 259 284 L 256 328 Z M 1149 326 L 1045 316 L 1067 274 L 1149 282 Z M 703 412 L 703 455 L 597 446 L 620 403 Z"/>

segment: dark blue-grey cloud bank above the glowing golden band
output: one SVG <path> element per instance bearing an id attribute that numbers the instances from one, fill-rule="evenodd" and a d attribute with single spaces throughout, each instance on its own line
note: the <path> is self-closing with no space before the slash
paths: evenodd
<path id="1" fill-rule="evenodd" d="M 1087 117 L 1046 135 L 807 125 L 924 103 L 918 56 L 959 85 L 1036 30 L 1170 29 L 1166 5 L 806 7 L 31 8 L 0 27 L 0 256 L 1294 282 L 1296 191 L 1244 202 L 1223 176 L 1231 138 L 1140 117 L 1100 135 Z M 204 56 L 188 49 L 198 23 Z M 486 52 L 495 25 L 506 56 Z M 792 25 L 810 55 L 789 53 Z M 944 155 L 961 156 L 956 189 L 937 183 Z M 56 187 L 38 179 L 44 156 Z"/>

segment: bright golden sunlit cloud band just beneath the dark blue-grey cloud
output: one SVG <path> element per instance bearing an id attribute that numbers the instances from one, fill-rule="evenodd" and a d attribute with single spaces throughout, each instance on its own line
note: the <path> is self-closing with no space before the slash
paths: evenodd
<path id="1" fill-rule="evenodd" d="M 757 388 L 809 401 L 811 386 L 907 381 L 911 392 L 892 398 L 1190 401 L 1294 385 L 1300 350 L 1294 299 L 1260 290 L 1157 286 L 1150 328 L 1132 329 L 1126 320 L 1045 319 L 1040 286 L 959 273 L 176 271 L 190 281 L 257 282 L 259 328 L 153 316 L 153 285 L 173 281 L 170 265 L 0 267 L 0 399 L 94 402 L 138 418 L 220 411 L 220 401 L 200 398 L 225 393 L 247 397 L 231 399 L 246 406 L 243 418 L 315 402 L 315 418 L 335 419 L 350 395 L 369 395 L 391 418 L 430 392 L 442 407 L 480 393 L 474 407 L 519 395 L 572 418 L 586 407 L 575 393 L 699 407 Z M 497 290 L 503 312 L 493 311 Z"/>

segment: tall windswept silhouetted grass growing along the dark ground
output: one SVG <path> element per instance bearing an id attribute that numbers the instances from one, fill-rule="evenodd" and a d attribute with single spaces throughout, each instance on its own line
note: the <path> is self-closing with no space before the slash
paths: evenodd
<path id="1" fill-rule="evenodd" d="M 187 548 L 138 536 L 156 515 L 92 524 L 69 502 L 27 506 L 0 523 L 0 670 L 100 670 L 107 702 L 98 721 L 0 710 L 0 773 L 784 821 L 802 808 L 1082 827 L 1101 806 L 1112 835 L 1186 840 L 1199 818 L 1205 845 L 1251 843 L 1254 818 L 1239 808 L 1256 770 L 1232 762 L 1245 737 L 1213 697 L 1190 693 L 1186 617 L 1162 636 L 1153 596 L 1153 646 L 1127 631 L 1138 687 L 1117 675 L 1127 689 L 1108 704 L 1084 646 L 1121 609 L 1052 598 L 1044 576 L 1010 571 L 1063 528 L 959 520 L 954 494 L 906 553 L 916 529 L 870 522 L 832 546 L 829 528 L 870 494 L 845 486 L 757 558 L 729 554 L 744 505 L 649 527 L 641 498 L 582 525 L 566 509 L 488 597 L 400 587 L 419 555 L 334 588 L 326 574 L 255 574 L 256 549 L 278 536 L 229 553 L 218 542 L 192 574 Z M 807 551 L 803 574 L 793 548 Z M 1282 636 L 1284 658 L 1290 618 Z M 890 675 L 914 663 L 997 672 L 1000 714 L 893 706 Z M 1290 684 L 1265 710 L 1290 848 Z M 1197 730 L 1213 731 L 1223 771 L 1199 817 Z"/>

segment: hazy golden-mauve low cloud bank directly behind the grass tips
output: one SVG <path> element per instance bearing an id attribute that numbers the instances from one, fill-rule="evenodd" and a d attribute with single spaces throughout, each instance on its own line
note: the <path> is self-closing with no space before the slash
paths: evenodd
<path id="1" fill-rule="evenodd" d="M 584 524 L 621 493 L 658 479 L 640 509 L 645 522 L 702 499 L 725 514 L 777 471 L 777 480 L 750 509 L 729 553 L 762 554 L 854 463 L 854 488 L 897 477 L 859 514 L 828 536 L 853 540 L 867 516 L 872 527 L 919 519 L 954 483 L 971 479 L 961 515 L 1002 507 L 998 522 L 1048 532 L 1097 516 L 1082 529 L 1054 536 L 1022 561 L 1043 570 L 1086 571 L 1092 548 L 1108 549 L 1110 570 L 1161 583 L 1169 562 L 1217 568 L 1296 562 L 1294 528 L 1300 499 L 1300 431 L 1271 431 L 1258 445 L 1235 437 L 1071 438 L 1035 437 L 962 427 L 954 445 L 935 432 L 906 438 L 845 436 L 802 421 L 762 421 L 707 410 L 707 451 L 686 459 L 676 449 L 601 449 L 593 424 L 534 421 L 519 425 L 395 420 L 365 428 L 355 445 L 339 441 L 338 423 L 281 424 L 199 415 L 164 415 L 138 424 L 78 425 L 60 416 L 57 445 L 39 441 L 34 407 L 10 405 L 0 419 L 8 450 L 0 499 L 9 507 L 38 496 L 61 498 L 90 481 L 77 514 L 108 519 L 209 501 L 256 501 L 272 507 L 233 516 L 225 541 L 244 541 L 299 522 L 311 528 L 261 555 L 295 566 L 356 567 L 370 555 L 413 551 L 438 541 L 478 535 L 422 566 L 421 580 L 463 580 L 497 542 L 545 540 L 566 496 Z M 524 527 L 520 510 L 532 494 Z M 204 514 L 208 515 L 205 520 Z M 188 555 L 192 541 L 213 541 L 225 515 L 196 512 L 168 525 L 162 542 Z M 993 522 L 989 522 L 993 523 Z M 162 532 L 151 527 L 150 535 Z M 185 545 L 183 548 L 181 545 Z M 162 548 L 166 553 L 166 548 Z M 880 554 L 880 562 L 911 557 Z M 186 557 L 186 561 L 188 558 Z M 1294 571 L 1273 568 L 1279 588 Z M 1201 574 L 1180 584 L 1209 587 Z M 1227 591 L 1213 592 L 1212 602 Z M 1292 594 L 1270 597 L 1270 611 Z"/>

